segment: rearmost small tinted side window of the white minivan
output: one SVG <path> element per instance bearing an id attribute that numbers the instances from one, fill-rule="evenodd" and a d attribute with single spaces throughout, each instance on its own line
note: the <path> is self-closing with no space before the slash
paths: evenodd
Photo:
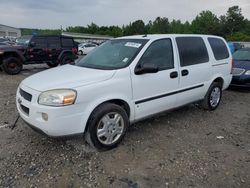
<path id="1" fill-rule="evenodd" d="M 216 60 L 227 59 L 229 57 L 227 46 L 223 40 L 209 37 L 208 42 Z"/>

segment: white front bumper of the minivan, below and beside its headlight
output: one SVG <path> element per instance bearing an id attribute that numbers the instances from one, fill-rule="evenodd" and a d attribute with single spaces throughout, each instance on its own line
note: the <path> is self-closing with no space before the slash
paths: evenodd
<path id="1" fill-rule="evenodd" d="M 20 93 L 20 89 L 32 97 Z M 79 104 L 64 107 L 49 107 L 37 103 L 40 92 L 25 85 L 17 90 L 16 104 L 20 117 L 31 125 L 32 128 L 40 130 L 52 137 L 68 136 L 83 133 L 85 130 L 86 118 Z M 42 113 L 48 115 L 46 121 Z"/>

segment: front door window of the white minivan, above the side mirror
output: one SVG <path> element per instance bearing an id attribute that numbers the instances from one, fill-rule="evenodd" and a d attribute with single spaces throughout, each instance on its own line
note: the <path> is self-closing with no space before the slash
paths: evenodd
<path id="1" fill-rule="evenodd" d="M 159 70 L 174 68 L 172 42 L 163 39 L 153 42 L 143 54 L 140 65 L 155 64 Z"/>

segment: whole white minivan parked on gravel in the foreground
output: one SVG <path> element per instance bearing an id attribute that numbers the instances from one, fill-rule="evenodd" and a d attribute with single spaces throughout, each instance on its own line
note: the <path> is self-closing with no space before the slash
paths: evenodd
<path id="1" fill-rule="evenodd" d="M 16 102 L 22 119 L 49 136 L 86 133 L 100 150 L 117 146 L 128 126 L 200 101 L 218 107 L 232 79 L 223 38 L 144 35 L 112 39 L 75 65 L 23 80 Z"/>

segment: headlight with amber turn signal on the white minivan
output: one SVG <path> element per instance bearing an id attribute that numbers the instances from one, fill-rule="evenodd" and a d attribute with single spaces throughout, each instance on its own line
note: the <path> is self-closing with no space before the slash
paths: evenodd
<path id="1" fill-rule="evenodd" d="M 38 103 L 46 106 L 66 106 L 74 104 L 76 91 L 72 89 L 55 89 L 40 94 Z"/>

